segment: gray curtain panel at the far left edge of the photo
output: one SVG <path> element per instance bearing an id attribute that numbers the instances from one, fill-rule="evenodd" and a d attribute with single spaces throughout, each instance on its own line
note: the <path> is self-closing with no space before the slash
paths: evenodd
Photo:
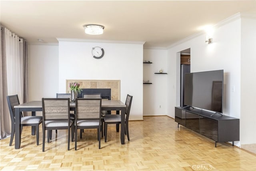
<path id="1" fill-rule="evenodd" d="M 10 136 L 11 125 L 8 105 L 6 101 L 7 91 L 7 69 L 6 69 L 6 44 L 5 44 L 5 34 L 4 29 L 1 27 L 0 34 L 0 139 L 4 139 Z"/>

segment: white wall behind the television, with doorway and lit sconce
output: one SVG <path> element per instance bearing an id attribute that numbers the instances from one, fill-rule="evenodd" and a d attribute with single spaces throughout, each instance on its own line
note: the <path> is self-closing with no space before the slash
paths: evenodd
<path id="1" fill-rule="evenodd" d="M 168 111 L 172 111 L 169 113 L 170 117 L 174 117 L 174 107 L 179 105 L 178 101 L 173 99 L 180 95 L 178 88 L 180 83 L 176 79 L 180 76 L 177 70 L 180 67 L 177 52 L 190 48 L 191 72 L 224 70 L 223 113 L 240 118 L 240 22 L 240 19 L 231 20 L 227 24 L 216 27 L 212 44 L 206 44 L 206 34 L 201 34 L 168 50 L 168 68 L 174 73 L 168 75 L 168 87 L 174 87 L 168 91 L 170 104 Z M 232 86 L 235 89 L 234 92 L 231 92 Z"/>

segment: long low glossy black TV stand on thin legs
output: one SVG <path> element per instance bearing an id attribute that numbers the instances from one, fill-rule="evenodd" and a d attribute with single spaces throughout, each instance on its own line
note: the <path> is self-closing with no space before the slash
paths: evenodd
<path id="1" fill-rule="evenodd" d="M 175 121 L 184 127 L 191 129 L 205 137 L 215 141 L 215 147 L 220 142 L 230 142 L 240 138 L 240 120 L 238 118 L 215 115 L 212 111 L 206 111 L 192 107 L 175 107 Z"/>

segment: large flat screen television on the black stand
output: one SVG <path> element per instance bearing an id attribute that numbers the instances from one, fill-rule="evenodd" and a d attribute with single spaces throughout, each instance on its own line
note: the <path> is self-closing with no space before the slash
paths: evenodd
<path id="1" fill-rule="evenodd" d="M 223 70 L 185 74 L 184 105 L 223 113 Z"/>

